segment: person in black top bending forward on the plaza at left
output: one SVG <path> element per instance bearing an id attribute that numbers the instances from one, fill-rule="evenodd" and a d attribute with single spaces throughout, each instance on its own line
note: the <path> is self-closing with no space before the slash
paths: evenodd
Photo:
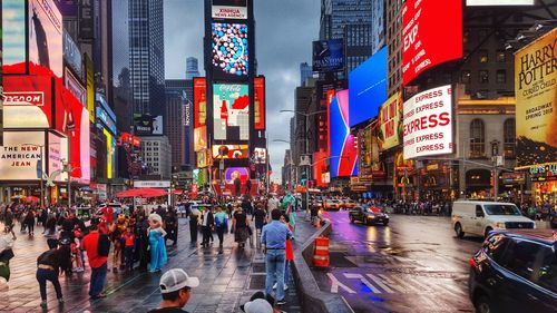
<path id="1" fill-rule="evenodd" d="M 69 270 L 71 262 L 70 248 L 68 245 L 60 245 L 43 252 L 37 257 L 37 281 L 39 282 L 41 307 L 47 307 L 47 281 L 55 286 L 58 303 L 63 304 L 62 290 L 58 275 Z"/>

